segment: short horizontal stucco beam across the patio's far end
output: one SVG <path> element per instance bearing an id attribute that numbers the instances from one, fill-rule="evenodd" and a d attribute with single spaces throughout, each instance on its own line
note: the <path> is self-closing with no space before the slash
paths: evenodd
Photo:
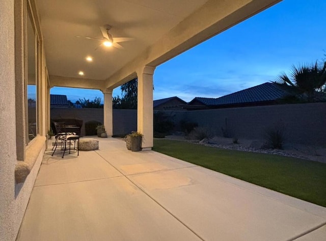
<path id="1" fill-rule="evenodd" d="M 104 89 L 104 81 L 99 81 L 97 79 L 88 78 L 74 78 L 74 77 L 64 77 L 57 75 L 49 75 L 50 87 L 71 87 L 71 88 L 83 88 L 83 89 L 93 89 L 102 90 Z"/>

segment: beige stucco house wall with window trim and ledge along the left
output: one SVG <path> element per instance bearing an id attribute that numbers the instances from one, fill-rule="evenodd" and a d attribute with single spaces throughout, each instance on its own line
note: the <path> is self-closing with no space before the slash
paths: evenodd
<path id="1" fill-rule="evenodd" d="M 39 135 L 27 143 L 25 131 L 24 1 L 0 1 L 0 240 L 16 239 L 45 150 L 45 103 L 39 105 Z M 41 34 L 39 33 L 41 37 Z M 42 48 L 42 46 L 40 46 Z M 40 63 L 39 97 L 47 94 L 45 58 Z M 17 182 L 17 168 L 30 173 Z"/>

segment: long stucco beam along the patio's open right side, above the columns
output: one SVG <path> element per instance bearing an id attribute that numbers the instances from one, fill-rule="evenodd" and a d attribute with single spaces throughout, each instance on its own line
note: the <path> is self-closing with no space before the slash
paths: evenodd
<path id="1" fill-rule="evenodd" d="M 164 63 L 189 48 L 282 0 L 210 0 L 170 32 L 106 79 L 105 88 L 116 88 L 132 79 L 135 69 Z"/>

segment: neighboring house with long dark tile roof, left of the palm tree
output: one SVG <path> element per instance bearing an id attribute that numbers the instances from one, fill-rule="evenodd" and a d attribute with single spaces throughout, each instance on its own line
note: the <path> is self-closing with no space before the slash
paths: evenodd
<path id="1" fill-rule="evenodd" d="M 280 99 L 293 94 L 293 90 L 289 87 L 275 83 L 264 83 L 219 98 L 195 97 L 184 108 L 187 110 L 204 110 L 270 105 L 277 104 Z"/>

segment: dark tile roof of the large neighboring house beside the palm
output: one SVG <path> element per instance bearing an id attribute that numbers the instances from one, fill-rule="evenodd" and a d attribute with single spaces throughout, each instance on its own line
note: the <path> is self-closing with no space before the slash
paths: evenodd
<path id="1" fill-rule="evenodd" d="M 192 101 L 198 100 L 205 105 L 230 105 L 239 103 L 273 101 L 289 94 L 291 94 L 291 91 L 284 88 L 284 86 L 275 83 L 264 83 L 229 95 L 222 96 L 220 98 L 196 97 Z"/>

